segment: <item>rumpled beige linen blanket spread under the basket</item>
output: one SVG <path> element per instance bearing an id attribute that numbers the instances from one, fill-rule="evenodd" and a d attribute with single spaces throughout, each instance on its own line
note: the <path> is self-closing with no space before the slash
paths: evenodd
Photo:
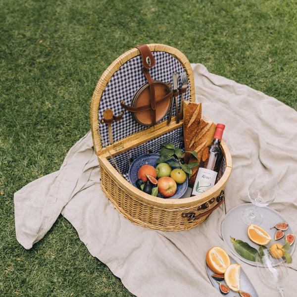
<path id="1" fill-rule="evenodd" d="M 213 246 L 231 254 L 221 237 L 221 222 L 226 211 L 248 202 L 247 187 L 263 170 L 273 173 L 279 182 L 277 198 L 270 207 L 285 217 L 296 233 L 297 111 L 211 74 L 201 64 L 192 67 L 202 114 L 226 124 L 223 138 L 233 157 L 233 171 L 225 188 L 225 204 L 188 231 L 161 232 L 134 225 L 117 212 L 100 188 L 89 132 L 69 150 L 60 170 L 15 193 L 16 237 L 24 248 L 41 240 L 62 213 L 90 253 L 136 296 L 220 297 L 207 277 L 205 254 Z M 254 266 L 236 260 L 258 296 L 279 296 L 261 283 Z M 287 296 L 296 296 L 296 270 L 297 255 L 293 254 Z"/>

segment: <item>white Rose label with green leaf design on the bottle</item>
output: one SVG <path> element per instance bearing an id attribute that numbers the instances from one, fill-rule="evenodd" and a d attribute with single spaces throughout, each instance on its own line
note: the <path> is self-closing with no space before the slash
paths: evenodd
<path id="1" fill-rule="evenodd" d="M 213 170 L 200 167 L 192 190 L 192 195 L 201 194 L 214 186 L 217 174 L 218 173 Z"/>

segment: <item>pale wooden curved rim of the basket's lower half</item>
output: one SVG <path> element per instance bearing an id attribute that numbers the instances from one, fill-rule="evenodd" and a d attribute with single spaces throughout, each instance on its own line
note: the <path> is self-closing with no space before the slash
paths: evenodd
<path id="1" fill-rule="evenodd" d="M 102 162 L 101 164 L 106 168 L 106 170 L 109 171 L 112 174 L 112 176 L 117 179 L 117 182 L 121 185 L 121 187 L 125 189 L 132 197 L 136 197 L 147 204 L 159 206 L 162 208 L 166 207 L 166 208 L 174 209 L 174 208 L 196 205 L 198 201 L 199 203 L 204 203 L 210 199 L 210 196 L 211 198 L 219 196 L 221 190 L 225 188 L 224 186 L 230 177 L 232 166 L 233 166 L 230 150 L 223 139 L 221 141 L 221 147 L 226 161 L 226 169 L 224 171 L 224 174 L 220 178 L 220 180 L 211 189 L 209 189 L 204 193 L 201 193 L 197 196 L 180 198 L 180 199 L 158 198 L 142 192 L 138 188 L 131 185 L 125 178 L 123 178 L 116 171 L 116 169 L 108 161 L 107 154 L 100 155 L 98 157 Z"/>

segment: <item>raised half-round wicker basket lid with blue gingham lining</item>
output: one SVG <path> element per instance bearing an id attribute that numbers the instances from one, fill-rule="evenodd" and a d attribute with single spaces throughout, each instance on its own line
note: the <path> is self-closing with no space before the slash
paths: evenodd
<path id="1" fill-rule="evenodd" d="M 178 49 L 161 44 L 148 44 L 156 64 L 149 72 L 153 80 L 170 82 L 172 84 L 173 72 L 185 72 L 189 80 L 189 88 L 184 94 L 184 99 L 195 101 L 195 83 L 191 64 L 187 57 Z M 95 88 L 91 102 L 91 130 L 94 148 L 97 155 L 112 150 L 139 139 L 143 135 L 159 130 L 166 130 L 168 114 L 162 121 L 151 127 L 145 127 L 135 121 L 132 114 L 123 110 L 120 101 L 131 104 L 133 95 L 146 83 L 142 72 L 142 59 L 139 49 L 133 48 L 114 60 L 103 72 Z M 179 84 L 180 86 L 180 84 Z M 180 98 L 180 97 L 179 97 Z M 180 101 L 179 101 L 180 107 Z M 114 120 L 109 125 L 101 123 L 103 112 L 111 109 L 114 116 L 122 115 L 122 119 Z M 174 122 L 175 109 L 170 124 L 170 129 L 182 125 Z M 112 133 L 113 143 L 110 143 L 109 133 Z"/>

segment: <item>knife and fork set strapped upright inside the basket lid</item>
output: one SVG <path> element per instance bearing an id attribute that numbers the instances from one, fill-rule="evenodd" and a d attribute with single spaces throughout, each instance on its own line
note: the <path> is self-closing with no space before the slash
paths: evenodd
<path id="1" fill-rule="evenodd" d="M 181 88 L 178 88 L 178 79 L 179 79 L 179 73 L 174 72 L 172 73 L 172 81 L 173 81 L 173 96 L 170 100 L 170 110 L 169 110 L 169 117 L 167 120 L 167 125 L 171 122 L 172 117 L 172 111 L 173 111 L 173 104 L 175 103 L 176 108 L 176 123 L 178 124 L 179 121 L 183 118 L 183 101 L 184 101 L 184 93 L 187 92 L 188 88 L 188 77 L 186 73 L 182 73 L 180 75 L 181 78 Z M 178 110 L 178 97 L 179 94 L 181 94 L 181 107 L 180 110 Z"/>

